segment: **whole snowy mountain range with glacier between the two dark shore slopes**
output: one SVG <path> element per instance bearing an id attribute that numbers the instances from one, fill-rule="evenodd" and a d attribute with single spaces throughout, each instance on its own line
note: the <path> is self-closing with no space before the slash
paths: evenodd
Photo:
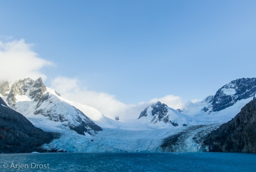
<path id="1" fill-rule="evenodd" d="M 231 81 L 215 95 L 200 102 L 187 102 L 175 110 L 157 102 L 138 119 L 116 121 L 99 110 L 61 97 L 47 88 L 41 78 L 27 78 L 14 84 L 0 83 L 0 96 L 44 131 L 60 137 L 41 146 L 68 152 L 165 152 L 208 151 L 203 141 L 221 124 L 234 118 L 255 99 L 255 78 Z"/>

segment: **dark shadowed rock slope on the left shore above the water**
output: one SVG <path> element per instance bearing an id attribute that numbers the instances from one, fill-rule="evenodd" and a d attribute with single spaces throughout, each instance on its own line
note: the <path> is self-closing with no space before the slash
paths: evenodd
<path id="1" fill-rule="evenodd" d="M 9 108 L 0 97 L 0 152 L 44 151 L 38 147 L 58 137 L 34 127 L 22 114 Z"/>

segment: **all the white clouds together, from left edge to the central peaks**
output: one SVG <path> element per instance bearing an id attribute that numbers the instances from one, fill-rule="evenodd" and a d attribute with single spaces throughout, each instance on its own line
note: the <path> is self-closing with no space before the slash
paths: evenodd
<path id="1" fill-rule="evenodd" d="M 28 77 L 33 79 L 41 77 L 45 80 L 50 77 L 42 73 L 41 70 L 46 66 L 51 66 L 52 63 L 39 58 L 38 54 L 32 50 L 32 46 L 33 44 L 28 44 L 24 39 L 9 42 L 0 41 L 0 81 L 8 79 L 9 82 L 14 82 Z M 51 79 L 50 87 L 58 91 L 63 97 L 92 106 L 112 119 L 117 116 L 120 120 L 134 119 L 145 106 L 150 106 L 157 101 L 166 103 L 172 108 L 182 108 L 184 105 L 179 96 L 173 95 L 154 98 L 135 105 L 126 105 L 117 100 L 114 95 L 87 90 L 86 85 L 82 85 L 79 78 L 54 77 Z"/>

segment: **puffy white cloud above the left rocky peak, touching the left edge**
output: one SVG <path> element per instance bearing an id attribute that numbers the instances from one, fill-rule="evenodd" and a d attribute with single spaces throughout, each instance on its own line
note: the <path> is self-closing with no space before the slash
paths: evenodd
<path id="1" fill-rule="evenodd" d="M 0 80 L 8 79 L 9 82 L 14 82 L 27 77 L 46 79 L 40 69 L 51 65 L 51 62 L 39 58 L 31 50 L 32 46 L 23 39 L 9 42 L 0 41 Z"/>

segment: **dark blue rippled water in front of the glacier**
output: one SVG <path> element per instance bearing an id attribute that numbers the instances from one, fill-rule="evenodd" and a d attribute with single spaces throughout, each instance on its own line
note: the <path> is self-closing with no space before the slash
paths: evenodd
<path id="1" fill-rule="evenodd" d="M 250 153 L 1 154 L 0 171 L 256 171 Z"/>

